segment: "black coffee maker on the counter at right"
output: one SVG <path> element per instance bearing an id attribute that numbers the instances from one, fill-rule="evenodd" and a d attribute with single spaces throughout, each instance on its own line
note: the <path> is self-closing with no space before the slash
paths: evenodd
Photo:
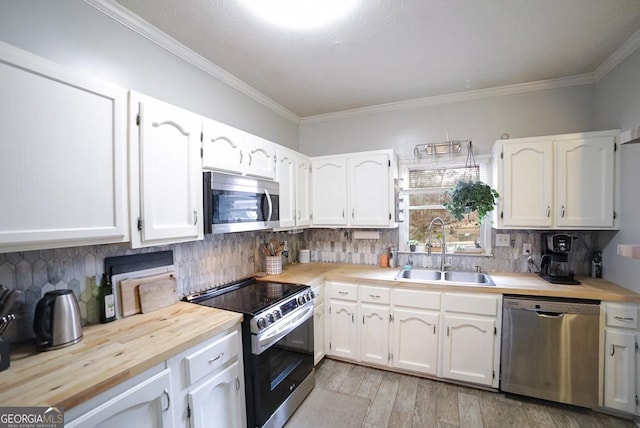
<path id="1" fill-rule="evenodd" d="M 542 234 L 541 278 L 552 284 L 580 284 L 569 266 L 569 252 L 574 239 L 572 235 L 562 233 Z"/>

